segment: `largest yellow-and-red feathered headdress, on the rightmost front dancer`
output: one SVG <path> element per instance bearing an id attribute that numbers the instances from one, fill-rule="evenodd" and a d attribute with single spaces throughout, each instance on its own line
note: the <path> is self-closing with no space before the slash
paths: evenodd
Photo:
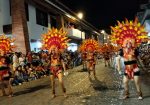
<path id="1" fill-rule="evenodd" d="M 147 38 L 147 32 L 145 31 L 144 26 L 138 23 L 137 18 L 134 21 L 128 21 L 126 19 L 125 22 L 117 22 L 118 26 L 111 26 L 112 43 L 125 47 L 126 43 L 130 42 L 132 47 L 136 47 L 143 41 L 143 39 Z"/>

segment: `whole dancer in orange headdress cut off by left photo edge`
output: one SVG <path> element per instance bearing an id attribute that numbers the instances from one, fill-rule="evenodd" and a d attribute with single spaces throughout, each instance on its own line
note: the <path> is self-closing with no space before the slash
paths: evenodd
<path id="1" fill-rule="evenodd" d="M 5 86 L 8 87 L 8 96 L 13 96 L 13 90 L 11 87 L 11 71 L 9 58 L 6 56 L 8 52 L 12 51 L 14 47 L 11 43 L 14 40 L 7 38 L 5 35 L 0 36 L 0 83 L 2 85 L 3 95 L 6 94 Z"/>

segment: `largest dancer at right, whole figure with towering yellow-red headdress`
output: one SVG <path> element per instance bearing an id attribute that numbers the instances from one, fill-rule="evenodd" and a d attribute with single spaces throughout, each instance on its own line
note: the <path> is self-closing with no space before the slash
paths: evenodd
<path id="1" fill-rule="evenodd" d="M 128 82 L 133 79 L 136 85 L 138 99 L 142 98 L 141 83 L 140 83 L 140 70 L 137 64 L 137 55 L 135 49 L 142 42 L 143 39 L 147 38 L 147 33 L 143 26 L 138 23 L 137 18 L 135 21 L 128 21 L 120 23 L 118 26 L 111 27 L 112 29 L 112 41 L 118 45 L 122 45 L 123 57 L 124 57 L 124 93 L 123 99 L 129 98 Z M 119 69 L 118 69 L 119 70 Z"/>

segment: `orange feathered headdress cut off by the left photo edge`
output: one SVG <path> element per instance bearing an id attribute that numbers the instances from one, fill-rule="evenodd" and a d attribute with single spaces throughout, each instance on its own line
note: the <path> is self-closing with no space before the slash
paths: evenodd
<path id="1" fill-rule="evenodd" d="M 15 40 L 10 39 L 6 35 L 0 35 L 0 51 L 4 51 L 5 53 L 11 52 L 12 48 L 15 46 L 12 44 Z"/>

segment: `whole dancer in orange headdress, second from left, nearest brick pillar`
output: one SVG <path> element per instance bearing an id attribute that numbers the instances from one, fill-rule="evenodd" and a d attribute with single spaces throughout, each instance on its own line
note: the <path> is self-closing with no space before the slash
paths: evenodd
<path id="1" fill-rule="evenodd" d="M 42 48 L 49 51 L 50 56 L 50 80 L 52 86 L 52 97 L 55 94 L 55 78 L 58 78 L 64 96 L 66 97 L 66 88 L 63 82 L 63 70 L 65 71 L 65 63 L 63 62 L 62 53 L 67 48 L 66 32 L 62 29 L 49 29 L 47 33 L 42 36 Z"/>

